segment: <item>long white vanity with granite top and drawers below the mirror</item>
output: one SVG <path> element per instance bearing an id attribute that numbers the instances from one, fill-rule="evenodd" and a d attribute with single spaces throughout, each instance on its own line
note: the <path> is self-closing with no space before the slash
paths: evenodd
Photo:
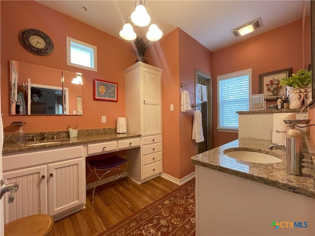
<path id="1" fill-rule="evenodd" d="M 4 143 L 3 181 L 20 184 L 14 203 L 7 204 L 8 194 L 3 197 L 4 223 L 33 214 L 49 214 L 56 221 L 83 209 L 86 157 L 139 149 L 140 137 L 139 134 L 107 133 L 48 143 Z"/>

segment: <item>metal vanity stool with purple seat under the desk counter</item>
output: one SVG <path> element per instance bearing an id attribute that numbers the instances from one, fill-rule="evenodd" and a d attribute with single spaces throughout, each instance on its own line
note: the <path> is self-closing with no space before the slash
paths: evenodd
<path id="1" fill-rule="evenodd" d="M 112 156 L 112 157 L 105 158 L 105 159 L 103 158 L 103 159 L 91 160 L 91 161 L 88 160 L 87 162 L 88 162 L 88 168 L 90 170 L 90 174 L 87 177 L 86 184 L 88 185 L 89 189 L 91 189 L 91 187 L 88 184 L 89 177 L 92 174 L 94 174 L 98 178 L 98 180 L 95 182 L 95 186 L 93 188 L 92 203 L 94 203 L 94 193 L 95 193 L 95 188 L 96 188 L 98 182 L 102 178 L 106 177 L 112 171 L 118 171 L 119 174 L 112 176 L 113 178 L 107 180 L 106 183 L 113 181 L 113 180 L 116 180 L 116 179 L 120 178 L 122 175 L 124 175 L 124 176 L 129 178 L 129 184 L 131 184 L 129 174 L 126 172 L 128 160 L 126 160 L 120 156 Z M 126 166 L 124 168 L 122 168 L 122 166 L 124 164 L 126 164 Z"/>

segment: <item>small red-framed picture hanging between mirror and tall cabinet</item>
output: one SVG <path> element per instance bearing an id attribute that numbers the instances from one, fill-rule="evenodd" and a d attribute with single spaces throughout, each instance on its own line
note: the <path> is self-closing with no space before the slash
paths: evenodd
<path id="1" fill-rule="evenodd" d="M 118 102 L 118 83 L 94 79 L 94 100 Z"/>

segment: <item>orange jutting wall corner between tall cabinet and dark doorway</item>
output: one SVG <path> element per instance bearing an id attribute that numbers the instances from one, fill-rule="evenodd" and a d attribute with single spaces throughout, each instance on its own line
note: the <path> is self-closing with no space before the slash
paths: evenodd
<path id="1" fill-rule="evenodd" d="M 212 55 L 177 28 L 149 48 L 146 57 L 150 64 L 163 68 L 163 173 L 181 179 L 194 172 L 190 157 L 196 146 L 191 139 L 193 110 L 181 112 L 180 84 L 189 85 L 190 103 L 195 103 L 195 69 L 211 74 Z"/>

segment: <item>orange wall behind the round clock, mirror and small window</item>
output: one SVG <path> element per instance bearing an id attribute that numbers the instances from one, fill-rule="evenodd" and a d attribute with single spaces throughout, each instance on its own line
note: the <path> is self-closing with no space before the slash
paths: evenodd
<path id="1" fill-rule="evenodd" d="M 125 116 L 125 79 L 123 70 L 135 56 L 129 42 L 113 37 L 35 1 L 0 1 L 1 4 L 1 111 L 5 133 L 15 133 L 12 121 L 26 122 L 25 132 L 65 130 L 78 124 L 79 129 L 116 127 L 116 118 Z M 37 56 L 19 40 L 21 30 L 40 29 L 54 42 L 54 51 Z M 97 47 L 97 72 L 66 65 L 65 36 Z M 9 60 L 18 60 L 72 72 L 83 73 L 83 116 L 11 116 L 9 107 Z M 118 83 L 118 102 L 93 100 L 93 79 Z M 107 122 L 101 123 L 101 116 Z M 47 125 L 49 124 L 49 125 Z"/>

